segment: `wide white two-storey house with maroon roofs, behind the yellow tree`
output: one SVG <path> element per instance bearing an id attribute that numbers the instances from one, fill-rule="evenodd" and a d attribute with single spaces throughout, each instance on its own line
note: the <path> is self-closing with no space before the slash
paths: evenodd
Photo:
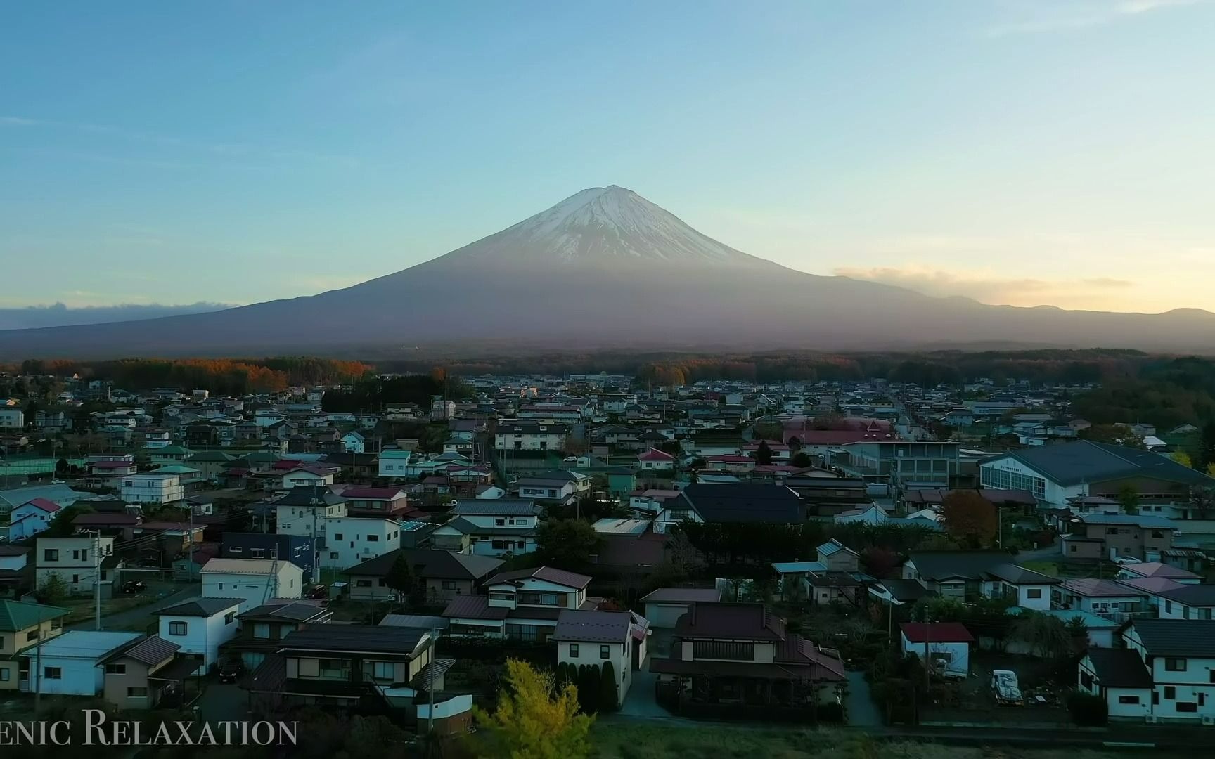
<path id="1" fill-rule="evenodd" d="M 594 608 L 586 574 L 552 567 L 503 572 L 485 582 L 487 595 L 459 596 L 443 610 L 448 634 L 547 641 L 563 608 Z"/>

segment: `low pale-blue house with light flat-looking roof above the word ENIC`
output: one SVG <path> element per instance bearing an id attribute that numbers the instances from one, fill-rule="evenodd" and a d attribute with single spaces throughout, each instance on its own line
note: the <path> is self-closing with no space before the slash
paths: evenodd
<path id="1" fill-rule="evenodd" d="M 29 657 L 28 692 L 96 696 L 106 684 L 98 662 L 117 648 L 143 638 L 141 633 L 72 630 L 24 652 Z"/>

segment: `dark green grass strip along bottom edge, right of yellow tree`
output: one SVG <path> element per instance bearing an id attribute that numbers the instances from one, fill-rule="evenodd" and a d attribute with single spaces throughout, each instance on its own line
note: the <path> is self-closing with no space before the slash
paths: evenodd
<path id="1" fill-rule="evenodd" d="M 1084 749 L 966 748 L 882 742 L 844 731 L 597 721 L 598 759 L 1111 759 Z"/>

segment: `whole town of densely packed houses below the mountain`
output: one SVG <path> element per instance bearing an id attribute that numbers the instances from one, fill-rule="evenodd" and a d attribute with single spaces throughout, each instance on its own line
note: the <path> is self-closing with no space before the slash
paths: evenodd
<path id="1" fill-rule="evenodd" d="M 600 710 L 854 721 L 849 673 L 880 639 L 927 661 L 929 692 L 1022 707 L 985 718 L 1066 720 L 1085 693 L 1112 721 L 1215 724 L 1215 481 L 1170 458 L 1191 425 L 1086 438 L 1085 387 L 480 376 L 468 400 L 333 413 L 326 387 L 62 379 L 28 418 L 0 398 L 0 690 L 149 709 L 227 687 L 254 714 L 374 704 L 451 735 L 492 696 L 467 676 L 475 639 L 600 668 Z M 950 544 L 957 494 L 996 515 L 989 543 Z M 529 561 L 567 520 L 594 550 Z M 824 538 L 718 574 L 686 560 L 714 526 Z M 855 543 L 895 533 L 920 537 L 881 567 Z M 674 563 L 701 568 L 648 584 Z M 175 594 L 147 629 L 94 624 L 140 584 Z M 1079 630 L 1066 676 L 957 611 L 985 605 Z M 864 640 L 830 628 L 854 617 L 878 621 Z"/>

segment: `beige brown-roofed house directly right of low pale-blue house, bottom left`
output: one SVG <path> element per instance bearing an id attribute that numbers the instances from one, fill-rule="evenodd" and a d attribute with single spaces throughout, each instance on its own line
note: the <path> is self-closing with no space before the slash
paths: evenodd
<path id="1" fill-rule="evenodd" d="M 102 697 L 119 709 L 154 709 L 183 689 L 198 663 L 159 635 L 147 635 L 97 659 L 103 672 Z"/>

